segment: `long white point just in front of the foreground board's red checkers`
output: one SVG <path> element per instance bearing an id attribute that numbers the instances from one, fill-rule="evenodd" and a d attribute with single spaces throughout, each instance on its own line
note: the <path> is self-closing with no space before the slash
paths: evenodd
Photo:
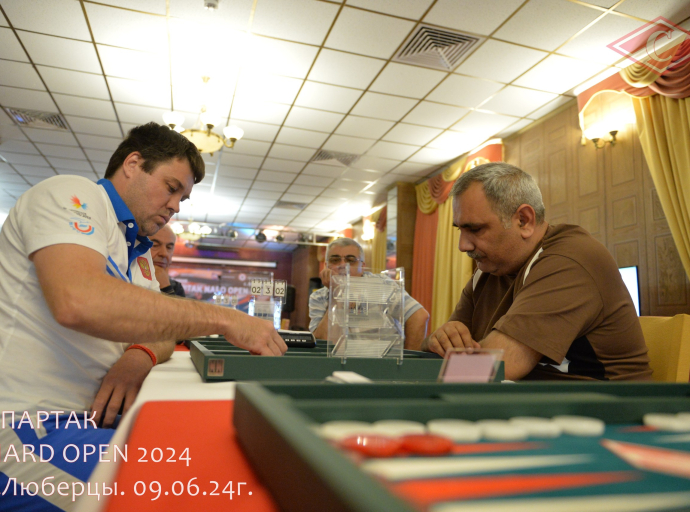
<path id="1" fill-rule="evenodd" d="M 374 459 L 362 469 L 389 481 L 414 480 L 443 476 L 472 475 L 517 469 L 566 466 L 590 462 L 589 455 L 538 455 L 521 457 L 416 457 L 409 459 Z"/>

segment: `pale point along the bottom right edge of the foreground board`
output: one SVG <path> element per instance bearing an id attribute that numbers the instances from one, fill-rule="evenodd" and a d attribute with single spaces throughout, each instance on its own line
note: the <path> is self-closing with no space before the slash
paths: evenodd
<path id="1" fill-rule="evenodd" d="M 616 494 L 565 498 L 464 501 L 431 507 L 430 512 L 654 512 L 690 507 L 690 493 Z"/>

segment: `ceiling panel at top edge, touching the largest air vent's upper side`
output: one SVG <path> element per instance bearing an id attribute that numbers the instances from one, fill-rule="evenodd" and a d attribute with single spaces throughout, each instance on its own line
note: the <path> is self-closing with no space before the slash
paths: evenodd
<path id="1" fill-rule="evenodd" d="M 488 35 L 522 3 L 523 0 L 438 0 L 424 21 Z"/>

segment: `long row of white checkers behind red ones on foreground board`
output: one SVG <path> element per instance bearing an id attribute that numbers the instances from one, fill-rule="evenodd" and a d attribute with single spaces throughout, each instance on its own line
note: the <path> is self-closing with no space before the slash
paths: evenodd
<path id="1" fill-rule="evenodd" d="M 325 439 L 342 441 L 352 436 L 402 437 L 411 434 L 434 434 L 456 443 L 481 441 L 524 441 L 528 438 L 554 438 L 561 434 L 596 437 L 604 434 L 606 424 L 598 418 L 585 416 L 554 416 L 540 418 L 517 416 L 509 420 L 467 421 L 435 419 L 428 423 L 409 420 L 328 421 L 314 425 L 314 431 Z"/>

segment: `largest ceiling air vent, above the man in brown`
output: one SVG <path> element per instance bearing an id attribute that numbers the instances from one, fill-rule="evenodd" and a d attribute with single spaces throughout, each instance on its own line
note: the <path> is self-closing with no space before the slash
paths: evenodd
<path id="1" fill-rule="evenodd" d="M 396 62 L 450 71 L 468 55 L 483 37 L 420 25 L 393 57 Z"/>

